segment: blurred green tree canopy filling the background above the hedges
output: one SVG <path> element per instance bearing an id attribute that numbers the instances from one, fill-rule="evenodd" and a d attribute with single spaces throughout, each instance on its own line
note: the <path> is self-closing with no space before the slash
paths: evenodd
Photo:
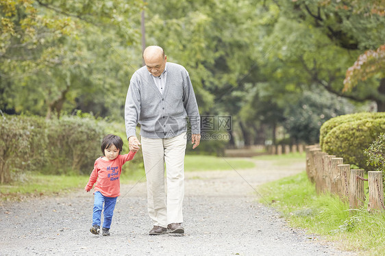
<path id="1" fill-rule="evenodd" d="M 380 0 L 5 0 L 1 112 L 123 120 L 142 10 L 147 45 L 188 69 L 201 114 L 232 116 L 231 146 L 278 143 L 277 127 L 312 143 L 332 116 L 385 111 Z"/>

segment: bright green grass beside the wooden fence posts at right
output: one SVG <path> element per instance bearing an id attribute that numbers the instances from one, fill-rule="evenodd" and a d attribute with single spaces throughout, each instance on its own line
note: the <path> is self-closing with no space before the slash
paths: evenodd
<path id="1" fill-rule="evenodd" d="M 369 214 L 367 203 L 353 214 L 336 196 L 316 196 L 306 172 L 266 183 L 258 191 L 260 201 L 281 212 L 293 227 L 324 235 L 348 251 L 385 255 L 385 214 Z"/>

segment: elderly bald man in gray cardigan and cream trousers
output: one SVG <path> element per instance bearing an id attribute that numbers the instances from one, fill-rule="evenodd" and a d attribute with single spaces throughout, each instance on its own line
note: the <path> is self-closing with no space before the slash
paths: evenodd
<path id="1" fill-rule="evenodd" d="M 143 59 L 146 66 L 132 75 L 125 102 L 129 150 L 139 149 L 136 138 L 139 123 L 147 177 L 147 207 L 153 221 L 149 234 L 184 233 L 186 118 L 190 119 L 192 149 L 195 149 L 201 140 L 197 100 L 186 68 L 167 62 L 161 47 L 147 47 Z"/>

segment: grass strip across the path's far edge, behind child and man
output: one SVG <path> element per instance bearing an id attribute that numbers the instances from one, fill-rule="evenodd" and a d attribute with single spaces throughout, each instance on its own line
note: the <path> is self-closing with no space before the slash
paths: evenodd
<path id="1" fill-rule="evenodd" d="M 253 162 L 245 159 L 222 158 L 205 155 L 186 155 L 185 170 L 239 170 L 253 168 Z M 89 176 L 40 175 L 28 173 L 23 175 L 23 182 L 17 181 L 8 185 L 0 185 L 0 201 L 21 201 L 27 197 L 71 192 L 73 189 L 84 188 Z M 121 183 L 145 181 L 145 170 L 131 169 L 123 171 Z"/>

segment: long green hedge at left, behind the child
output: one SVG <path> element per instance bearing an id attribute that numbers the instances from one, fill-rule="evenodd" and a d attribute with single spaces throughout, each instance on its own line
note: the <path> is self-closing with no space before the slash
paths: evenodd
<path id="1" fill-rule="evenodd" d="M 100 144 L 108 133 L 121 136 L 128 153 L 124 123 L 96 120 L 92 116 L 64 116 L 45 120 L 30 116 L 0 116 L 0 183 L 22 179 L 28 171 L 44 174 L 89 175 Z M 128 166 L 142 163 L 141 151 Z"/>

